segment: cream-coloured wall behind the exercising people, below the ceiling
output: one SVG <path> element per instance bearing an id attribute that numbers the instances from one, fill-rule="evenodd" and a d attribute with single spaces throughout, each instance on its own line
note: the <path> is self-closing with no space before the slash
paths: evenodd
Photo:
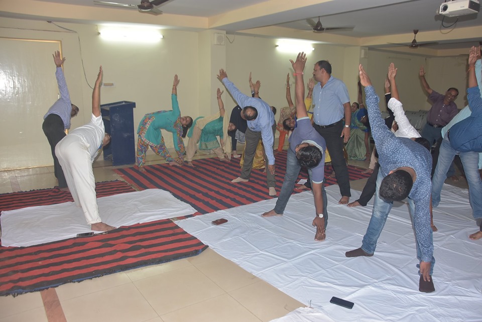
<path id="1" fill-rule="evenodd" d="M 249 94 L 248 76 L 253 73 L 253 80 L 260 80 L 261 97 L 278 109 L 287 105 L 286 74 L 292 75 L 293 70 L 289 59 L 294 59 L 296 53 L 282 53 L 276 49 L 276 39 L 227 35 L 225 45 L 213 45 L 213 33 L 219 31 L 187 32 L 164 30 L 162 39 L 156 44 L 112 43 L 98 36 L 96 25 L 59 23 L 62 27 L 75 32 L 68 32 L 43 21 L 29 21 L 3 18 L 0 21 L 0 37 L 20 39 L 41 39 L 61 42 L 62 53 L 67 60 L 64 72 L 69 87 L 72 102 L 80 108 L 78 117 L 72 119 L 72 129 L 81 126 L 90 119 L 91 93 L 99 65 L 103 66 L 104 82 L 113 82 L 113 87 L 103 87 L 101 103 L 119 100 L 135 101 L 134 123 L 140 122 L 146 113 L 159 110 L 170 110 L 170 94 L 172 79 L 175 73 L 179 75 L 180 84 L 178 97 L 182 115 L 196 118 L 217 112 L 214 97 L 217 87 L 223 88 L 216 79 L 219 68 L 225 68 L 230 80 L 240 90 Z M 79 41 L 80 39 L 80 41 Z M 439 57 L 425 59 L 422 56 L 410 54 L 395 54 L 383 51 L 369 50 L 368 58 L 359 58 L 360 47 L 342 47 L 326 44 L 315 44 L 314 51 L 308 55 L 305 68 L 305 82 L 311 77 L 313 64 L 318 60 L 330 61 L 334 77 L 345 81 L 350 94 L 350 101 L 357 99 L 356 82 L 357 66 L 365 64 L 379 94 L 383 94 L 383 82 L 388 64 L 394 62 L 399 68 L 398 84 L 400 95 L 407 110 L 430 108 L 426 102 L 418 79 L 418 69 L 425 64 L 427 80 L 435 90 L 444 91 L 448 87 L 457 87 L 461 95 L 456 102 L 459 107 L 465 104 L 462 97 L 466 87 L 466 58 Z M 38 52 L 29 53 L 32 56 Z M 50 66 L 42 66 L 38 72 L 46 81 L 55 81 L 55 65 L 47 55 Z M 4 65 L 2 65 L 4 66 Z M 1 69 L 2 67 L 0 67 Z M 35 70 L 35 67 L 32 68 Z M 43 71 L 44 69 L 49 72 Z M 84 77 L 84 71 L 86 79 Z M 9 72 L 2 71 L 0 72 Z M 87 83 L 88 82 L 88 83 Z M 291 83 L 294 83 L 291 76 Z M 89 86 L 90 84 L 90 86 Z M 56 96 L 57 92 L 50 96 Z M 294 86 L 292 86 L 294 96 Z M 230 113 L 235 102 L 224 94 L 226 111 Z M 42 113 L 11 115 L 8 122 L 22 122 L 27 129 L 35 129 L 38 135 L 33 140 L 25 140 L 18 133 L 12 133 L 9 140 L 3 138 L 0 148 L 8 150 L 12 146 L 22 146 L 15 157 L 3 153 L 0 156 L 0 169 L 51 165 L 50 148 L 47 139 L 41 131 L 43 114 L 53 103 L 52 99 L 35 102 Z M 383 101 L 381 108 L 385 109 Z M 5 110 L 3 113 L 6 117 Z M 276 117 L 278 120 L 279 115 Z M 14 128 L 12 131 L 20 131 Z M 166 134 L 168 148 L 173 146 L 171 134 Z M 137 138 L 136 138 L 137 139 Z M 28 142 L 26 142 L 28 141 Z M 37 149 L 32 155 L 32 147 Z M 152 153 L 152 152 L 150 152 Z"/>

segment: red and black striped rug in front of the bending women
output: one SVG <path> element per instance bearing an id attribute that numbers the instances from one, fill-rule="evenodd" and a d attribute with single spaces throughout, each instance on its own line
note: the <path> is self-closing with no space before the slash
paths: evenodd
<path id="1" fill-rule="evenodd" d="M 115 169 L 127 182 L 139 189 L 159 188 L 170 191 L 176 198 L 189 203 L 198 212 L 210 213 L 239 205 L 250 204 L 273 198 L 268 193 L 266 173 L 253 170 L 249 182 L 231 183 L 240 174 L 239 159 L 230 162 L 218 158 L 194 160 L 195 167 L 170 166 L 157 164 L 146 166 L 146 172 L 139 172 L 137 167 Z M 350 180 L 367 178 L 370 174 L 363 169 L 349 165 Z M 286 151 L 276 154 L 276 190 L 281 191 L 286 172 Z M 325 165 L 325 185 L 336 184 L 331 165 Z M 308 178 L 306 169 L 302 169 L 298 179 Z M 295 191 L 294 193 L 297 193 Z"/>

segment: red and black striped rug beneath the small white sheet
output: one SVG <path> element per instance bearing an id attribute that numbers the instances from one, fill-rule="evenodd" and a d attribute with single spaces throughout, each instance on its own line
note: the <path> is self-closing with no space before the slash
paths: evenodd
<path id="1" fill-rule="evenodd" d="M 134 191 L 122 181 L 101 182 L 97 196 Z M 0 195 L 0 209 L 71 201 L 59 189 Z M 17 295 L 128 269 L 194 256 L 206 249 L 171 220 L 119 228 L 30 247 L 0 247 L 0 295 Z"/>

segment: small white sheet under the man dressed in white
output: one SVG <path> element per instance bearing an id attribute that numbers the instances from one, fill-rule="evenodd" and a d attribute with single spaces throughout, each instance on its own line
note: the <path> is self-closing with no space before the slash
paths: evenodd
<path id="1" fill-rule="evenodd" d="M 160 189 L 97 198 L 100 218 L 110 226 L 131 226 L 186 216 L 196 212 L 189 204 Z M 2 246 L 31 246 L 90 232 L 82 208 L 75 202 L 2 211 Z"/>

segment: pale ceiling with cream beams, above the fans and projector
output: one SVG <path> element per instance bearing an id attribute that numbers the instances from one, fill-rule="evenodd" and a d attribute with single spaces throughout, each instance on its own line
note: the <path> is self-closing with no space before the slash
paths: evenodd
<path id="1" fill-rule="evenodd" d="M 140 4 L 140 0 L 109 0 Z M 433 50 L 468 48 L 482 34 L 482 13 L 447 18 L 436 11 L 444 0 L 169 0 L 154 16 L 129 8 L 95 5 L 92 0 L 3 0 L 0 17 L 58 22 L 122 22 L 181 30 L 215 29 L 227 34 L 307 39 L 367 47 L 438 42 Z M 313 33 L 306 19 L 321 17 L 323 27 L 354 26 L 352 31 Z M 445 26 L 445 27 L 444 27 Z M 448 28 L 446 28 L 448 27 Z M 418 49 L 416 49 L 418 50 Z"/>

